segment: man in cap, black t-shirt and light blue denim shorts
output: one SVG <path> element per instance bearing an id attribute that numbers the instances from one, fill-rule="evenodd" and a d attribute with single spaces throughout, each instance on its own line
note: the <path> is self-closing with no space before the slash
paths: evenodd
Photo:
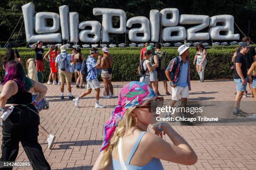
<path id="1" fill-rule="evenodd" d="M 240 52 L 236 55 L 235 67 L 234 67 L 234 82 L 236 84 L 236 98 L 234 116 L 246 117 L 247 113 L 240 110 L 240 101 L 243 97 L 243 92 L 246 91 L 247 85 L 247 61 L 245 55 L 249 52 L 250 46 L 247 42 L 243 42 L 240 45 Z"/>

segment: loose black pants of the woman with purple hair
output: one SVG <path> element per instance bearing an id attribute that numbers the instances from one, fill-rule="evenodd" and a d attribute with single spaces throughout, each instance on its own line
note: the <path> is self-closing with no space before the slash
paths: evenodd
<path id="1" fill-rule="evenodd" d="M 32 111 L 33 110 L 33 111 Z M 50 170 L 38 143 L 40 119 L 36 108 L 29 104 L 15 106 L 9 117 L 3 121 L 2 157 L 0 161 L 15 161 L 21 142 L 34 170 Z M 0 165 L 0 170 L 11 170 Z"/>

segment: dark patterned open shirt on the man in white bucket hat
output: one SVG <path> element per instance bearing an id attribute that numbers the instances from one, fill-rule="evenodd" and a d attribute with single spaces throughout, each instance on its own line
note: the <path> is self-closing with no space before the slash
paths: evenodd
<path id="1" fill-rule="evenodd" d="M 189 69 L 189 57 L 187 57 L 188 60 L 188 69 L 187 69 L 187 83 L 189 86 L 189 90 L 191 90 L 191 86 L 190 86 L 190 69 Z M 171 74 L 171 78 L 172 81 L 174 82 L 175 85 L 178 85 L 179 83 L 179 75 L 180 75 L 180 70 L 182 68 L 183 65 L 183 61 L 182 61 L 182 57 L 178 56 L 173 58 L 168 67 L 166 68 L 166 70 L 168 70 Z"/>

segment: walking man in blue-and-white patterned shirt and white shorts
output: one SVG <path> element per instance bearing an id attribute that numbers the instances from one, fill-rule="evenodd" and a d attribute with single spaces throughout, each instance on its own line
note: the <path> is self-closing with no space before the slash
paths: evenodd
<path id="1" fill-rule="evenodd" d="M 98 57 L 98 61 L 96 62 L 95 58 Z M 84 62 L 83 62 L 84 63 Z M 95 107 L 96 108 L 104 108 L 104 105 L 99 103 L 100 99 L 100 82 L 97 79 L 97 70 L 100 68 L 101 57 L 99 56 L 99 51 L 97 48 L 92 48 L 90 50 L 90 55 L 86 59 L 86 65 L 82 66 L 82 73 L 86 76 L 87 81 L 87 90 L 79 95 L 76 99 L 74 99 L 74 105 L 79 107 L 79 100 L 89 95 L 92 92 L 92 89 L 95 90 Z M 87 70 L 87 72 L 85 72 Z"/>

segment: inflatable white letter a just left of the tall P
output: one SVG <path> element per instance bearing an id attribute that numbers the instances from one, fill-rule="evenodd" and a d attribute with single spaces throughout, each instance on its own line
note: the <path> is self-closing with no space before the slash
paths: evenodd
<path id="1" fill-rule="evenodd" d="M 91 26 L 92 30 L 83 30 L 86 26 Z M 79 39 L 82 42 L 98 42 L 100 41 L 100 34 L 101 34 L 101 25 L 98 21 L 84 21 L 79 24 Z M 94 37 L 89 37 L 89 34 L 95 35 Z"/>

